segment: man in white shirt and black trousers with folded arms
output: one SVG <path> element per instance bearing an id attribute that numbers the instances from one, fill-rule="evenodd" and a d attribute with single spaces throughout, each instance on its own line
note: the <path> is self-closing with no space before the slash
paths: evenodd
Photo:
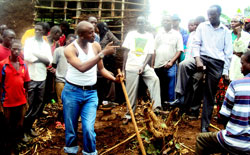
<path id="1" fill-rule="evenodd" d="M 27 138 L 27 134 L 37 135 L 32 129 L 32 124 L 44 107 L 46 66 L 51 64 L 53 60 L 50 46 L 43 39 L 43 31 L 43 24 L 41 22 L 37 23 L 35 25 L 35 37 L 27 39 L 24 45 L 24 60 L 27 62 L 31 80 L 28 89 L 29 109 L 24 120 L 24 140 Z"/>

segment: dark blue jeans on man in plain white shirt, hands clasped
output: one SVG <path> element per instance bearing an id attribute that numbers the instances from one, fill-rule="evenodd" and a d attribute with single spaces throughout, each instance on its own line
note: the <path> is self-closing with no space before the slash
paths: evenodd
<path id="1" fill-rule="evenodd" d="M 177 65 L 174 64 L 169 69 L 164 67 L 156 68 L 155 73 L 160 79 L 161 99 L 162 99 L 161 102 L 164 103 L 164 101 L 168 102 L 174 101 Z"/>

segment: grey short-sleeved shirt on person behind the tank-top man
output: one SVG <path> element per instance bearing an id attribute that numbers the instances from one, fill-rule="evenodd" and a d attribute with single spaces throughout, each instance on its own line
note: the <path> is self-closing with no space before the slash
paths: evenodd
<path id="1" fill-rule="evenodd" d="M 68 62 L 64 56 L 65 47 L 56 48 L 53 55 L 53 64 L 56 64 L 56 82 L 65 82 L 65 76 L 68 69 Z"/>

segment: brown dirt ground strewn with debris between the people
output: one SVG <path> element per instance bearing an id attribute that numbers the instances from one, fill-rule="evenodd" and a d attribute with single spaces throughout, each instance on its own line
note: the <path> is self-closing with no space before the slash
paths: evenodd
<path id="1" fill-rule="evenodd" d="M 40 135 L 32 139 L 28 144 L 21 146 L 21 154 L 32 154 L 32 155 L 64 155 L 63 147 L 65 145 L 64 130 L 56 129 L 55 122 L 57 121 L 58 105 L 49 104 L 45 110 L 48 112 L 39 121 L 37 121 L 35 127 L 36 131 Z M 138 107 L 140 110 L 140 106 Z M 138 110 L 138 111 L 139 111 Z M 143 127 L 143 114 L 136 112 L 135 117 L 138 124 L 138 128 Z M 215 110 L 216 111 L 216 110 Z M 97 118 L 95 123 L 96 132 L 96 148 L 98 154 L 102 154 L 105 150 L 115 146 L 116 144 L 124 141 L 132 134 L 135 133 L 133 124 L 130 122 L 128 125 L 123 125 L 121 118 L 126 112 L 125 103 L 118 105 L 111 111 L 103 111 L 98 109 Z M 104 120 L 106 119 L 106 120 Z M 212 124 L 222 128 L 221 125 L 217 124 L 216 120 L 212 120 Z M 211 131 L 216 131 L 210 128 Z M 200 132 L 200 118 L 198 120 L 189 120 L 188 117 L 183 116 L 182 120 L 178 123 L 177 139 L 181 146 L 180 149 L 184 149 L 182 154 L 192 155 L 192 150 L 195 150 L 196 136 Z M 80 146 L 78 154 L 82 154 L 82 131 L 81 122 L 79 121 L 78 128 L 78 145 Z M 143 139 L 146 144 L 145 139 Z M 188 148 L 187 148 L 188 147 Z M 147 149 L 147 148 L 146 148 Z M 129 140 L 128 142 L 118 146 L 110 152 L 105 153 L 106 155 L 137 155 L 140 154 L 139 145 L 136 137 Z"/>

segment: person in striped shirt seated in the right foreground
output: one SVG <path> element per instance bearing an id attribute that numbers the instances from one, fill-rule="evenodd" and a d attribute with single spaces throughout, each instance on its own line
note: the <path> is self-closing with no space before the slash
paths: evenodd
<path id="1" fill-rule="evenodd" d="M 250 51 L 243 54 L 241 64 L 245 77 L 230 83 L 220 110 L 225 117 L 226 129 L 199 134 L 196 141 L 198 155 L 250 154 Z"/>

